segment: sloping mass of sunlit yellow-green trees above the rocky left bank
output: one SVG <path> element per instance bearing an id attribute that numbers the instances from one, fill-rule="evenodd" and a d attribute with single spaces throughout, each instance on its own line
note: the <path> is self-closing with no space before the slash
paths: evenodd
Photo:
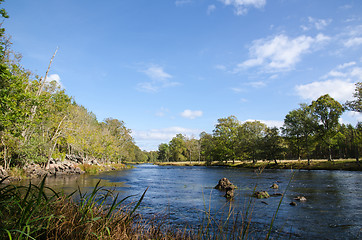
<path id="1" fill-rule="evenodd" d="M 0 16 L 8 18 L 4 9 Z M 47 80 L 49 68 L 39 77 L 24 69 L 20 59 L 0 26 L 0 165 L 46 166 L 66 154 L 104 162 L 147 159 L 123 121 L 97 121 L 56 81 Z"/>

